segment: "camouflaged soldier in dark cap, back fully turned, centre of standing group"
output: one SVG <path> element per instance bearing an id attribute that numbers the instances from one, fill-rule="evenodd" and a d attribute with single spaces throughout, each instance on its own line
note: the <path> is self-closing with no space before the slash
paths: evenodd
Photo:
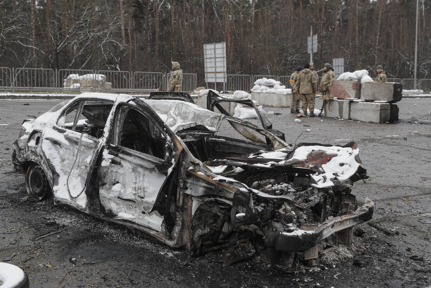
<path id="1" fill-rule="evenodd" d="M 310 64 L 305 63 L 304 69 L 295 82 L 297 93 L 301 94 L 302 111 L 304 117 L 307 116 L 307 107 L 310 110 L 310 117 L 314 117 L 314 103 L 317 92 L 317 79 L 310 70 Z"/>

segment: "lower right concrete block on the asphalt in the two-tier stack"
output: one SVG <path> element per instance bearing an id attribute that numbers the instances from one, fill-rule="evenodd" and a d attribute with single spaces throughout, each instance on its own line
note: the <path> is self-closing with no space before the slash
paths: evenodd
<path id="1" fill-rule="evenodd" d="M 389 122 L 390 104 L 374 102 L 350 103 L 350 119 L 362 122 Z"/>

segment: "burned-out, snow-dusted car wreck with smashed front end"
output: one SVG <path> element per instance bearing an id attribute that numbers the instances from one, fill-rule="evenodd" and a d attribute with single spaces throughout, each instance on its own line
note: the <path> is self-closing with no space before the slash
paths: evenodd
<path id="1" fill-rule="evenodd" d="M 256 108 L 250 100 L 209 95 L 206 110 L 187 95 L 84 93 L 25 119 L 12 162 L 29 196 L 195 255 L 230 247 L 225 263 L 257 257 L 285 269 L 349 246 L 371 219 L 373 202 L 351 194 L 367 178 L 355 142 L 287 144 L 265 115 L 259 127 L 223 108 Z M 237 138 L 222 134 L 226 124 Z"/>

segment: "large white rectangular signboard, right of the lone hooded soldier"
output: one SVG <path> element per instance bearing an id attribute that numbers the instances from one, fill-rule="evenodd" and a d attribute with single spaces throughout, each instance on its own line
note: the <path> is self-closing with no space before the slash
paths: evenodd
<path id="1" fill-rule="evenodd" d="M 205 81 L 226 82 L 226 42 L 203 44 Z"/>

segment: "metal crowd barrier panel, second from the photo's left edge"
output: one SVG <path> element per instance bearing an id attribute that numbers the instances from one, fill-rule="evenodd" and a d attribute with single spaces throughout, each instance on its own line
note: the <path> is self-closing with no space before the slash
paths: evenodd
<path id="1" fill-rule="evenodd" d="M 15 70 L 13 85 L 18 90 L 54 90 L 54 70 L 42 68 L 17 68 Z"/>

